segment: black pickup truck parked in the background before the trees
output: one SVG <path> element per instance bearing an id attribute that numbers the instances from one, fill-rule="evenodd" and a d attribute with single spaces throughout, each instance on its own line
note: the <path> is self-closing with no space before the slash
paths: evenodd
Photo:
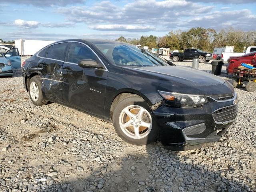
<path id="1" fill-rule="evenodd" d="M 170 58 L 174 62 L 199 58 L 200 63 L 205 63 L 209 62 L 212 59 L 212 54 L 208 52 L 203 52 L 199 49 L 185 49 L 184 53 L 170 53 Z"/>

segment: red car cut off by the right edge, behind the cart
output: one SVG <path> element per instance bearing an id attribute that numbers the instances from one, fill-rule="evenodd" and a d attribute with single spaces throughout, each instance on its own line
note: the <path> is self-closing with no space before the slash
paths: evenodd
<path id="1" fill-rule="evenodd" d="M 256 51 L 241 56 L 230 56 L 228 59 L 227 72 L 233 73 L 233 68 L 241 66 L 241 63 L 251 64 L 256 67 Z"/>

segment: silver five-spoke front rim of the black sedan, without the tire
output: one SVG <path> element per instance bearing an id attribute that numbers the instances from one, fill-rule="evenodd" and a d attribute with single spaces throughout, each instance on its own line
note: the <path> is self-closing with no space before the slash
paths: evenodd
<path id="1" fill-rule="evenodd" d="M 141 139 L 150 133 L 152 118 L 150 113 L 142 106 L 130 105 L 120 113 L 119 124 L 126 136 Z"/>

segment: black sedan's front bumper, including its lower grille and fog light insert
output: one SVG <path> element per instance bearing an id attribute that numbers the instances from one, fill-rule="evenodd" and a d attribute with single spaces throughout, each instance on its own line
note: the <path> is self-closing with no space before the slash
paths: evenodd
<path id="1" fill-rule="evenodd" d="M 236 94 L 226 102 L 209 102 L 196 108 L 162 105 L 152 112 L 165 148 L 175 151 L 202 148 L 220 141 L 236 120 Z M 222 120 L 223 119 L 223 120 Z"/>

